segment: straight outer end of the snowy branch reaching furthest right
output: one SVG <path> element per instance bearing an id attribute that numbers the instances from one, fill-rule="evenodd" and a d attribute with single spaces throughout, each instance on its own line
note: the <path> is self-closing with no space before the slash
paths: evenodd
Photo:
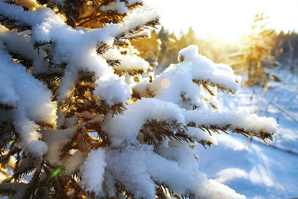
<path id="1" fill-rule="evenodd" d="M 260 117 L 241 107 L 230 112 L 210 109 L 189 110 L 185 113 L 185 122 L 187 126 L 206 129 L 210 134 L 210 131 L 221 130 L 257 137 L 263 141 L 267 138 L 273 141 L 274 136 L 279 134 L 278 124 L 273 117 Z"/>

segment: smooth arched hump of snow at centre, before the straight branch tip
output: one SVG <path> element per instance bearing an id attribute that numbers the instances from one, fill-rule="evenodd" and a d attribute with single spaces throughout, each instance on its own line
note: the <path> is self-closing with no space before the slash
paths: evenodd
<path id="1" fill-rule="evenodd" d="M 144 98 L 127 106 L 123 114 L 106 118 L 103 130 L 108 133 L 113 146 L 137 144 L 137 136 L 145 123 L 154 119 L 182 124 L 182 111 L 174 103 Z"/>

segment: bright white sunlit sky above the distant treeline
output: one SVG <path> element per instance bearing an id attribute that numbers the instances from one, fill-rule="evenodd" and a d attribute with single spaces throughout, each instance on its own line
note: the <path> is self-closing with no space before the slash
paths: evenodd
<path id="1" fill-rule="evenodd" d="M 192 26 L 200 38 L 237 41 L 250 32 L 253 14 L 265 11 L 268 27 L 298 31 L 298 0 L 150 0 L 161 23 L 179 35 Z"/>

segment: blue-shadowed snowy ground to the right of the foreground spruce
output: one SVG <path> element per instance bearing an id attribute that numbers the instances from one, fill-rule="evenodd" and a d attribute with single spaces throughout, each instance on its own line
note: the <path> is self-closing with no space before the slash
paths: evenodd
<path id="1" fill-rule="evenodd" d="M 275 143 L 254 138 L 249 146 L 242 135 L 223 133 L 215 135 L 219 145 L 212 149 L 197 147 L 200 171 L 250 199 L 298 198 L 298 78 L 289 71 L 279 75 L 283 83 L 272 83 L 264 98 L 264 89 L 242 87 L 238 95 L 220 99 L 222 109 L 245 106 L 276 118 Z"/>

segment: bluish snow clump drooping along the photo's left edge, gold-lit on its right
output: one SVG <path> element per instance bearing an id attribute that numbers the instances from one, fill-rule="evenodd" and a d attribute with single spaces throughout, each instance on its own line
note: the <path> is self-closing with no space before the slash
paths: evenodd
<path id="1" fill-rule="evenodd" d="M 26 73 L 24 66 L 13 63 L 10 56 L 5 53 L 2 43 L 0 43 L 0 80 L 3 85 L 0 91 L 0 103 L 13 107 L 10 112 L 14 127 L 21 137 L 20 145 L 29 153 L 41 156 L 47 151 L 47 145 L 38 139 L 41 135 L 35 122 L 56 125 L 57 104 L 51 101 L 51 92 Z"/>

